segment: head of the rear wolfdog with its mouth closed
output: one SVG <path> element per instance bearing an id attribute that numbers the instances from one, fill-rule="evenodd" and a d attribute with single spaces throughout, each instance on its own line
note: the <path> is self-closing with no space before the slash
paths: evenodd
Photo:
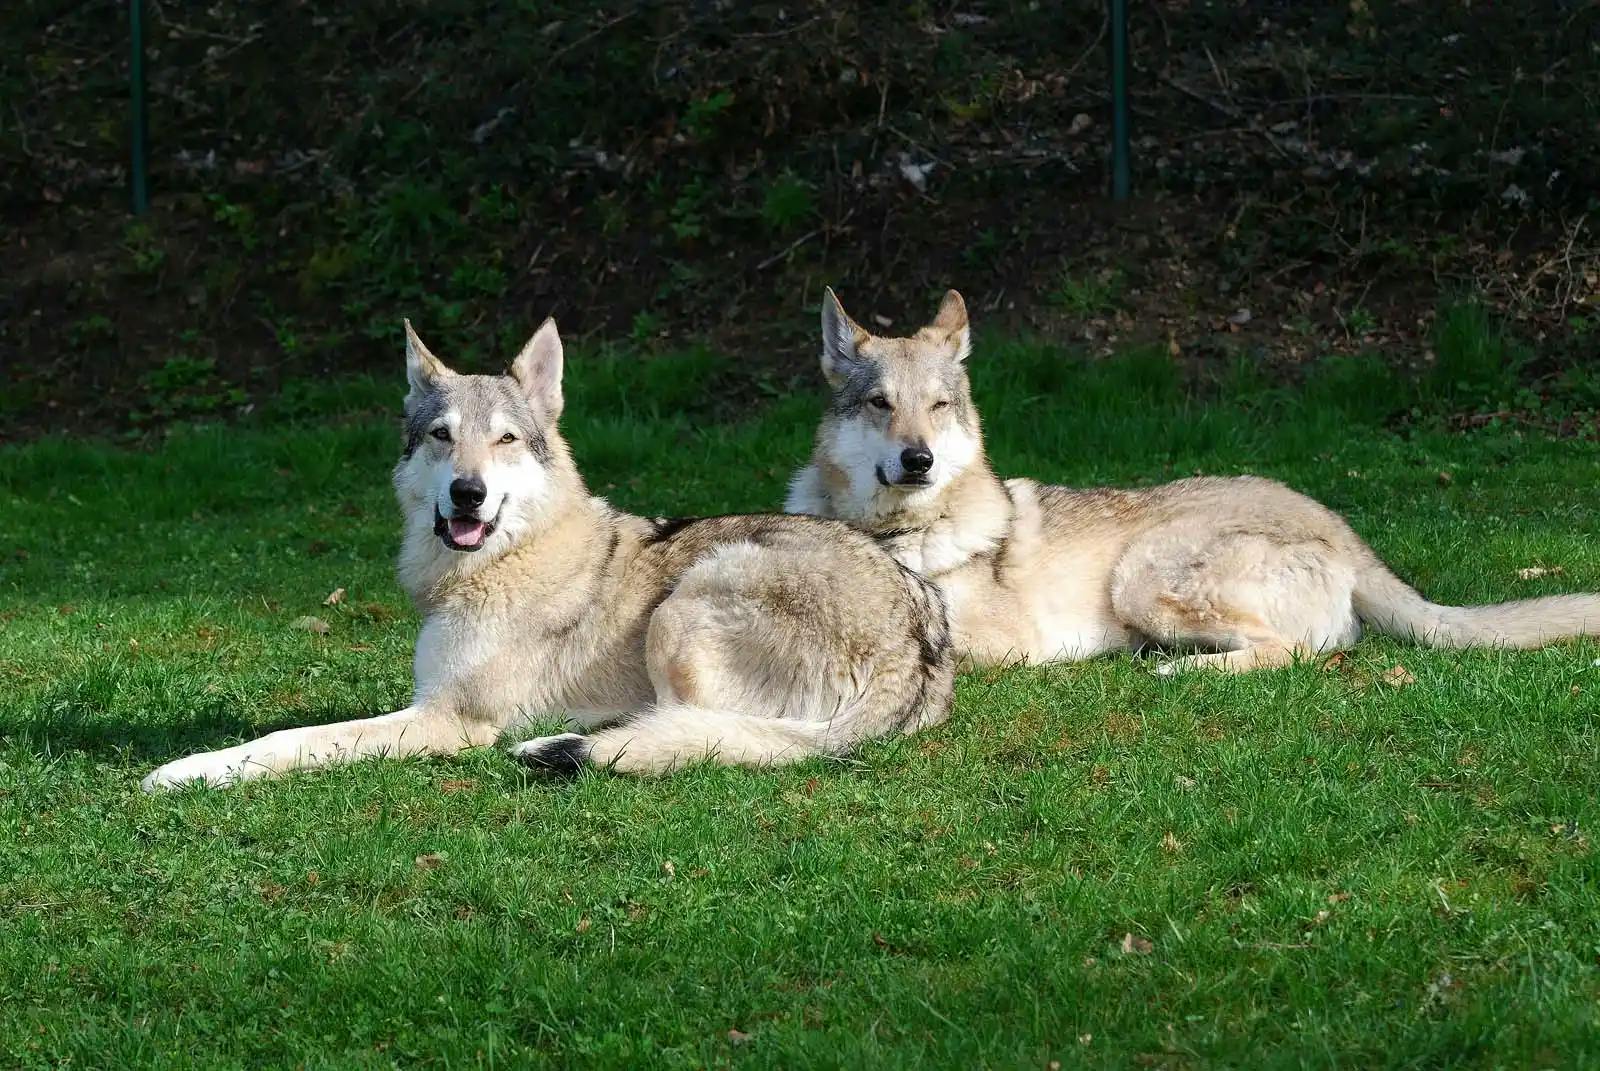
<path id="1" fill-rule="evenodd" d="M 818 448 L 867 501 L 934 498 L 982 450 L 966 381 L 966 304 L 944 295 L 933 322 L 910 338 L 877 338 L 822 298 L 822 375 L 834 399 Z"/>

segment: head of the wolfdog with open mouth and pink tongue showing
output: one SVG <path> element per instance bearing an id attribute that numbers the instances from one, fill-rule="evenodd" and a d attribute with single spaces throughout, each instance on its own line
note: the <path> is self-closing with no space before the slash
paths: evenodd
<path id="1" fill-rule="evenodd" d="M 546 320 L 502 376 L 464 376 L 405 325 L 405 451 L 395 491 L 418 536 L 445 549 L 504 549 L 536 527 L 571 474 L 555 431 L 562 338 Z"/>

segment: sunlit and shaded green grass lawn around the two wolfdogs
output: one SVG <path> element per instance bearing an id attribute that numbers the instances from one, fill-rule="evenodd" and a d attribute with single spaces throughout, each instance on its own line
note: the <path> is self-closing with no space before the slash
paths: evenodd
<path id="1" fill-rule="evenodd" d="M 973 365 L 1005 472 L 1270 474 L 1435 599 L 1600 589 L 1600 447 L 1390 424 L 1414 399 L 1376 362 L 1205 392 L 1154 355 Z M 712 423 L 720 368 L 570 360 L 594 487 L 774 506 L 821 399 Z M 6 1066 L 1592 1058 L 1594 644 L 984 672 L 938 730 L 774 772 L 550 784 L 483 751 L 139 794 L 182 752 L 405 703 L 400 391 L 397 360 L 147 450 L 0 451 Z"/>

